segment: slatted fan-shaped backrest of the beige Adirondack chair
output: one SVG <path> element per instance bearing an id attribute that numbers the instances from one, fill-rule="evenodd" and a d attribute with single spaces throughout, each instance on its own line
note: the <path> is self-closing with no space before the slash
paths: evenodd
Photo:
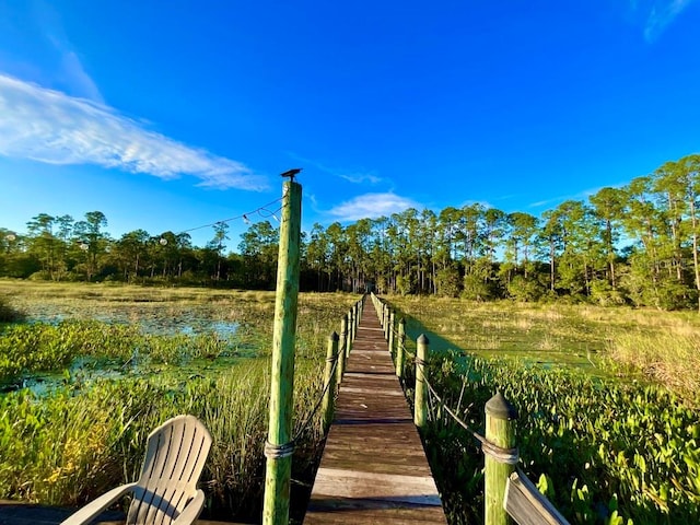
<path id="1" fill-rule="evenodd" d="M 127 525 L 170 525 L 195 497 L 210 446 L 209 431 L 194 416 L 151 432 Z"/>

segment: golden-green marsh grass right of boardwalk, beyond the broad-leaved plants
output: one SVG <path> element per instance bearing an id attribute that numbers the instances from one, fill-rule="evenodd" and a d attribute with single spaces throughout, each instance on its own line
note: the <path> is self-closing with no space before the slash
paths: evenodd
<path id="1" fill-rule="evenodd" d="M 592 305 L 477 303 L 457 299 L 387 298 L 409 317 L 408 332 L 427 331 L 431 349 L 574 366 L 596 375 L 643 374 L 691 402 L 700 400 L 700 316 Z M 431 335 L 433 337 L 431 337 Z"/>

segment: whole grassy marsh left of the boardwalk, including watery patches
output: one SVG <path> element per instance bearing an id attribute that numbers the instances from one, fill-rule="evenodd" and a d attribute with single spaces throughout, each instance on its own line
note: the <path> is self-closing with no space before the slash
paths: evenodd
<path id="1" fill-rule="evenodd" d="M 81 504 L 132 480 L 150 430 L 188 412 L 214 439 L 202 478 L 208 515 L 258 520 L 273 293 L 0 281 L 0 296 L 27 322 L 0 331 L 5 385 L 52 377 L 0 394 L 0 499 Z M 298 431 L 320 394 L 327 337 L 357 299 L 300 295 Z M 294 456 L 293 516 L 322 438 L 317 415 Z"/>

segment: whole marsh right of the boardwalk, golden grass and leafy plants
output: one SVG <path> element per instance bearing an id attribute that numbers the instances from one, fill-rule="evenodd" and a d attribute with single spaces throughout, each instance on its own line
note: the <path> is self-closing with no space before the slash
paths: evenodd
<path id="1" fill-rule="evenodd" d="M 700 521 L 697 314 L 387 299 L 410 336 L 429 336 L 429 381 L 472 428 L 497 390 L 513 402 L 518 467 L 571 523 Z M 477 442 L 434 398 L 430 413 L 423 438 L 450 523 L 479 523 Z"/>

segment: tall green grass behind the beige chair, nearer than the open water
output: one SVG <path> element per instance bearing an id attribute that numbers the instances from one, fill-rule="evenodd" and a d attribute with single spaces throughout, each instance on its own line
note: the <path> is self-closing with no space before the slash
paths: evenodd
<path id="1" fill-rule="evenodd" d="M 83 504 L 137 477 L 152 429 L 192 413 L 213 438 L 202 477 L 210 505 L 215 513 L 254 517 L 262 490 L 269 368 L 268 359 L 258 359 L 217 377 L 97 381 L 44 397 L 28 390 L 1 396 L 0 498 Z M 296 372 L 299 429 L 320 393 L 320 375 L 310 361 Z M 298 475 L 313 462 L 320 439 L 316 415 L 301 436 Z"/>

